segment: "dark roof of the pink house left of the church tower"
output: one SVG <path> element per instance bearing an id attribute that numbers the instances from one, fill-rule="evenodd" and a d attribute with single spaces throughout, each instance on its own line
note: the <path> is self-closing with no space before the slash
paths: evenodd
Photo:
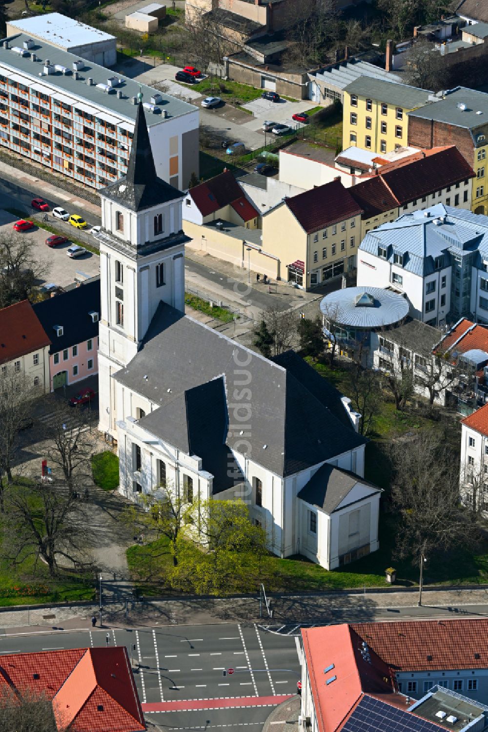
<path id="1" fill-rule="evenodd" d="M 98 321 L 94 323 L 89 313 L 95 311 L 100 318 L 100 277 L 94 277 L 73 290 L 37 302 L 32 307 L 51 338 L 50 354 L 83 343 L 89 338 L 96 338 Z M 55 325 L 63 326 L 63 335 L 56 335 Z"/>

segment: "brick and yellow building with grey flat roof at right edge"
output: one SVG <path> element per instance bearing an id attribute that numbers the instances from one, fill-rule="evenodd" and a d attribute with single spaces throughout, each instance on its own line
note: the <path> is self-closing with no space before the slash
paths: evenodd
<path id="1" fill-rule="evenodd" d="M 457 86 L 408 113 L 408 143 L 423 148 L 455 145 L 473 170 L 471 206 L 488 214 L 488 94 Z"/>

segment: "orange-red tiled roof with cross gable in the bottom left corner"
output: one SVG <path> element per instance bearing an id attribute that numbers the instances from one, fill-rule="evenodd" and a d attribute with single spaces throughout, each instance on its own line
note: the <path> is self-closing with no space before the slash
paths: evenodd
<path id="1" fill-rule="evenodd" d="M 8 654 L 0 659 L 1 684 L 44 692 L 59 728 L 74 722 L 78 732 L 146 729 L 123 646 Z"/>

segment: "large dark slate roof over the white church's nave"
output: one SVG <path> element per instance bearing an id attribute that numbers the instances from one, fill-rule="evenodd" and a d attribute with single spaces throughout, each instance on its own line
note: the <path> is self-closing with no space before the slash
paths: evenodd
<path id="1" fill-rule="evenodd" d="M 246 373 L 251 376 L 251 396 L 244 392 L 239 399 L 236 394 L 243 392 Z M 190 449 L 210 472 L 221 465 L 212 466 L 210 452 L 217 445 L 236 445 L 237 452 L 243 452 L 242 444 L 237 445 L 242 439 L 248 440 L 256 463 L 280 476 L 366 442 L 355 433 L 339 392 L 300 356 L 290 352 L 270 361 L 164 303 L 141 351 L 115 378 L 160 405 L 159 415 L 158 410 L 141 420 L 147 430 L 185 452 Z M 218 397 L 207 391 L 214 379 L 225 386 L 226 403 L 218 408 L 225 420 L 214 413 Z M 196 388 L 204 385 L 202 391 Z M 201 399 L 206 405 L 202 408 Z M 244 436 L 235 427 L 227 431 L 227 424 L 241 425 Z M 200 436 L 199 431 L 213 434 Z M 221 486 L 215 485 L 215 490 Z"/>

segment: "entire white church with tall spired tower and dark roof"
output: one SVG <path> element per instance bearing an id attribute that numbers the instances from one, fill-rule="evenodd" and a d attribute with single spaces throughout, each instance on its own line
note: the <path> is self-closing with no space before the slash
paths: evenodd
<path id="1" fill-rule="evenodd" d="M 184 195 L 156 176 L 141 104 L 127 176 L 100 196 L 99 427 L 120 492 L 242 498 L 273 553 L 327 569 L 376 550 L 349 400 L 295 352 L 265 359 L 184 314 Z"/>

